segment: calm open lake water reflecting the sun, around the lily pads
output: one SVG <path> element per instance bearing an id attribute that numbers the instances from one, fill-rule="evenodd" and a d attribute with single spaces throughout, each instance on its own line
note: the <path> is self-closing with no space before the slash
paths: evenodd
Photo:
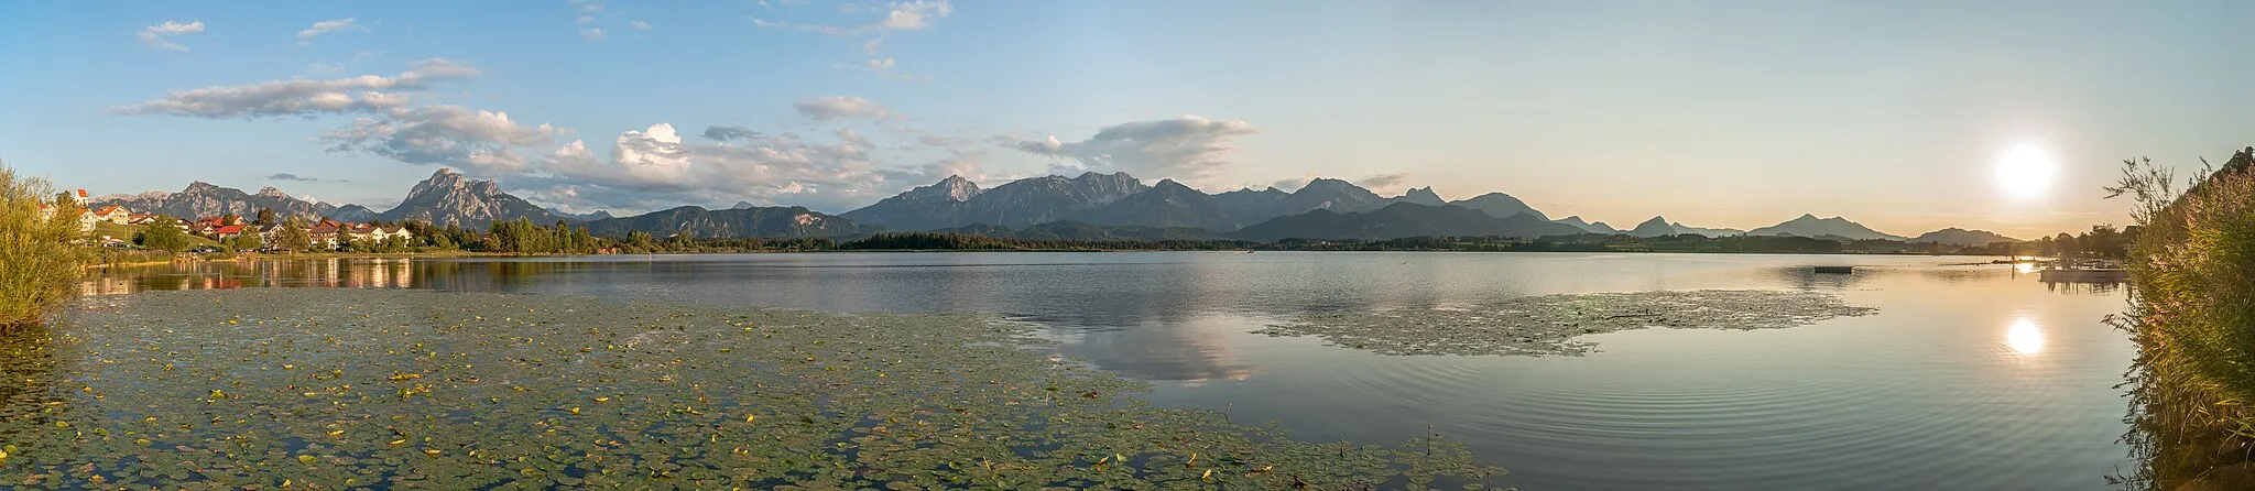
<path id="1" fill-rule="evenodd" d="M 985 311 L 1301 439 L 1468 441 L 1527 489 L 2102 489 L 2135 347 L 2108 286 L 1987 257 L 965 252 L 338 259 L 126 268 L 86 293 L 377 286 L 814 311 Z M 1809 266 L 1858 266 L 1811 275 Z M 1378 356 L 1249 333 L 1306 311 L 1597 291 L 1838 293 L 1876 315 L 1588 336 L 1590 356 Z"/>

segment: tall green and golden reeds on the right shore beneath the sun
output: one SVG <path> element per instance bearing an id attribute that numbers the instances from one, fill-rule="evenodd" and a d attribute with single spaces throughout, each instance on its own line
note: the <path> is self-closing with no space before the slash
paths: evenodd
<path id="1" fill-rule="evenodd" d="M 2205 162 L 2205 160 L 2203 160 Z M 2255 146 L 2176 191 L 2151 160 L 2124 160 L 2106 191 L 2133 200 L 2131 304 L 2108 318 L 2138 342 L 2122 437 L 2135 489 L 2255 486 Z"/>

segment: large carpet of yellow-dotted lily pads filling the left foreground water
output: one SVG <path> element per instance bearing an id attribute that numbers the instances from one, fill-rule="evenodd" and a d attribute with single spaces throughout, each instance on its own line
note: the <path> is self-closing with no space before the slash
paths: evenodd
<path id="1" fill-rule="evenodd" d="M 1421 489 L 1441 437 L 1310 444 L 1017 349 L 983 315 L 419 291 L 90 300 L 0 338 L 0 489 Z"/>

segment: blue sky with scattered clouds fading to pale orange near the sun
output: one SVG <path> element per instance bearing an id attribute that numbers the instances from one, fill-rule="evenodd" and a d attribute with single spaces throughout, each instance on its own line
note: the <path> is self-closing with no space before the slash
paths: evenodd
<path id="1" fill-rule="evenodd" d="M 372 209 L 846 212 L 965 176 L 1344 178 L 1551 216 L 2036 236 L 2255 144 L 2255 2 L 0 2 L 0 160 Z M 2000 182 L 2005 155 L 2052 178 Z M 2018 169 L 2018 167 L 2016 167 Z M 2045 185 L 2048 182 L 2048 185 Z"/>

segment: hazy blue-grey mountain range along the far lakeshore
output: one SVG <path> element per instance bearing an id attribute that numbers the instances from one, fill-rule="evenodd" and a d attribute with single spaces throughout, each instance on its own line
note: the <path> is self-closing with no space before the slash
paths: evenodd
<path id="1" fill-rule="evenodd" d="M 271 207 L 284 216 L 338 221 L 428 221 L 435 225 L 487 227 L 496 221 L 530 218 L 548 225 L 582 223 L 595 234 L 676 234 L 692 236 L 850 236 L 870 232 L 945 230 L 1026 239 L 1400 239 L 1400 236 L 1563 236 L 1563 234 L 1770 234 L 1836 241 L 1887 239 L 1951 246 L 1984 246 L 2011 241 L 1980 230 L 1935 230 L 1903 239 L 1833 216 L 1802 214 L 1757 230 L 1691 227 L 1662 216 L 1617 230 L 1588 223 L 1581 216 L 1549 218 L 1520 198 L 1491 191 L 1463 200 L 1445 200 L 1432 187 L 1407 189 L 1403 196 L 1380 196 L 1367 187 L 1317 178 L 1283 191 L 1236 189 L 1206 194 L 1175 180 L 1146 185 L 1128 173 L 1040 176 L 997 187 L 961 176 L 916 187 L 873 205 L 821 214 L 807 207 L 758 207 L 735 203 L 728 209 L 674 207 L 638 216 L 609 212 L 564 214 L 532 205 L 492 180 L 471 180 L 451 169 L 408 189 L 388 212 L 359 205 L 329 205 L 293 198 L 266 187 L 259 194 L 194 182 L 178 194 L 151 191 L 138 196 L 104 196 L 95 205 L 126 205 L 133 212 L 176 216 L 257 214 Z"/>

